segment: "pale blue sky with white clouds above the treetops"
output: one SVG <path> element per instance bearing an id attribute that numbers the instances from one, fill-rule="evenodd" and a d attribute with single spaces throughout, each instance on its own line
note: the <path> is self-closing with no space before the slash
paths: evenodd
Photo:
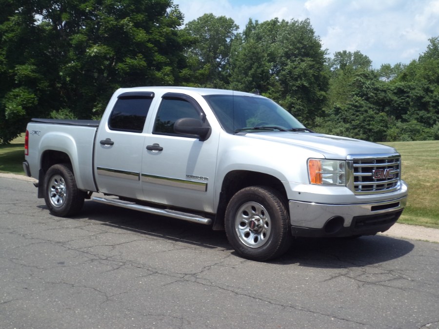
<path id="1" fill-rule="evenodd" d="M 381 64 L 418 59 L 439 36 L 439 0 L 174 0 L 185 22 L 205 13 L 232 18 L 242 30 L 249 18 L 306 19 L 328 49 L 359 50 Z"/>

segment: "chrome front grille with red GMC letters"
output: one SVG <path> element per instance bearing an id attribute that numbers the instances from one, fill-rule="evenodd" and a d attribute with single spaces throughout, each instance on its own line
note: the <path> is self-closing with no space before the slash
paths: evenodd
<path id="1" fill-rule="evenodd" d="M 352 159 L 353 191 L 355 194 L 377 194 L 397 190 L 400 164 L 399 156 Z"/>

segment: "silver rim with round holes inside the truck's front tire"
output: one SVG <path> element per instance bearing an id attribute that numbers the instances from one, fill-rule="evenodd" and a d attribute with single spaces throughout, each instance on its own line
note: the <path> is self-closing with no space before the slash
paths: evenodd
<path id="1" fill-rule="evenodd" d="M 270 236 L 270 215 L 264 206 L 257 202 L 244 203 L 236 213 L 235 229 L 244 245 L 251 248 L 261 247 Z"/>

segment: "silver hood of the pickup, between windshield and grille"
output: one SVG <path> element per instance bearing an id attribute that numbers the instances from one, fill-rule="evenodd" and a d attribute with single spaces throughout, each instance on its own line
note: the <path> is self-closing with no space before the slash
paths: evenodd
<path id="1" fill-rule="evenodd" d="M 319 152 L 328 159 L 345 159 L 346 155 L 398 153 L 393 147 L 364 140 L 305 132 L 248 133 L 248 138 L 270 140 Z"/>

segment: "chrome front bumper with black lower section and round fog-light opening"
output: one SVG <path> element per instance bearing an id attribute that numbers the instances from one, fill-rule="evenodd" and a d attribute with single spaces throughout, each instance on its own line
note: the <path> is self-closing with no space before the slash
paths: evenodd
<path id="1" fill-rule="evenodd" d="M 294 236 L 373 235 L 387 231 L 407 204 L 403 197 L 362 204 L 318 204 L 289 201 Z"/>

